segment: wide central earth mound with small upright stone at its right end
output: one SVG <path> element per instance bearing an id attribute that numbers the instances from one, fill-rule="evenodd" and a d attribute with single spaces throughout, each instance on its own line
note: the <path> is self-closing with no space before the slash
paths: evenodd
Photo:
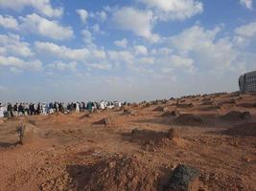
<path id="1" fill-rule="evenodd" d="M 168 133 L 133 129 L 130 141 L 139 143 L 143 150 L 149 152 L 155 152 L 159 148 L 184 145 L 183 139 L 179 138 L 175 129 L 170 129 Z"/>

